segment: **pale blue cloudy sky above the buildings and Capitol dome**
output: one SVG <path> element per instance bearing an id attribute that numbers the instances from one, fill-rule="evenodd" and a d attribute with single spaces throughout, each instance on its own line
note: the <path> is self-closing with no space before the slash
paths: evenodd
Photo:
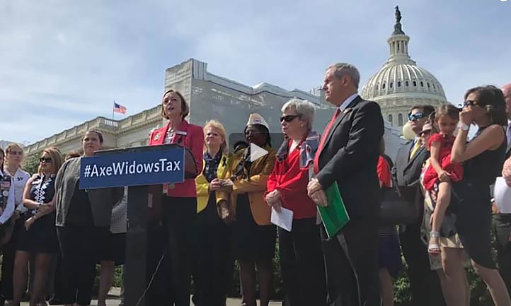
<path id="1" fill-rule="evenodd" d="M 309 90 L 347 61 L 362 83 L 388 57 L 399 4 L 410 56 L 450 102 L 511 82 L 511 0 L 0 1 L 0 139 L 38 141 L 153 107 L 190 57 L 248 85 Z M 116 115 L 120 119 L 120 115 Z"/>

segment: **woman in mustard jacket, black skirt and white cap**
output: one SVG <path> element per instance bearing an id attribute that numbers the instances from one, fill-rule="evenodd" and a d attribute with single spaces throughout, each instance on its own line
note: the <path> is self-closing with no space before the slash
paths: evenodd
<path id="1" fill-rule="evenodd" d="M 240 263 L 243 305 L 255 306 L 255 268 L 259 274 L 260 306 L 268 306 L 272 288 L 272 259 L 275 256 L 275 225 L 270 222 L 270 207 L 265 203 L 266 182 L 275 164 L 270 127 L 260 114 L 251 114 L 245 127 L 250 146 L 239 151 L 231 163 L 231 179 L 222 180 L 231 187 L 234 256 Z M 268 154 L 253 160 L 253 145 Z"/>

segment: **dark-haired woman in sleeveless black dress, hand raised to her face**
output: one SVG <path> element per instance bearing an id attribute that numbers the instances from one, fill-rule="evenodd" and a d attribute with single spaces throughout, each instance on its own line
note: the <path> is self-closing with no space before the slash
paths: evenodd
<path id="1" fill-rule="evenodd" d="M 452 183 L 454 227 L 476 272 L 488 286 L 496 306 L 511 305 L 509 293 L 491 253 L 490 184 L 500 175 L 505 160 L 507 118 L 502 91 L 495 86 L 471 88 L 459 114 L 459 129 L 451 151 L 452 163 L 463 163 L 464 178 Z M 476 135 L 466 142 L 471 124 Z M 454 196 L 454 195 L 457 196 Z M 447 215 L 446 215 L 447 217 Z M 447 305 L 464 305 L 466 299 L 462 249 L 443 247 L 443 270 L 450 293 Z"/>

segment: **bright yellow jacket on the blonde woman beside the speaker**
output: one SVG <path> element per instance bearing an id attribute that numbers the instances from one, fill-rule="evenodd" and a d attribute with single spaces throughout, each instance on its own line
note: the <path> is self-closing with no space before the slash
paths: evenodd
<path id="1" fill-rule="evenodd" d="M 220 160 L 220 165 L 218 165 L 217 169 L 217 178 L 218 179 L 229 179 L 231 177 L 230 171 L 230 163 L 232 157 L 231 154 L 222 155 L 222 159 Z M 202 161 L 202 170 L 205 167 L 205 161 Z M 207 206 L 207 200 L 209 199 L 209 183 L 206 180 L 206 177 L 202 175 L 202 171 L 200 175 L 195 178 L 195 186 L 197 187 L 197 213 L 203 211 Z M 216 191 L 215 195 L 217 196 L 217 205 L 219 201 L 229 201 L 229 193 Z M 219 213 L 218 206 L 217 212 Z M 219 216 L 220 213 L 219 213 Z"/>

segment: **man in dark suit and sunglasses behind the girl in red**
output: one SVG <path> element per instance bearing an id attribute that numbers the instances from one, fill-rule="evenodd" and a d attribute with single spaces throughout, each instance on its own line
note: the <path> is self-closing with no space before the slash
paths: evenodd
<path id="1" fill-rule="evenodd" d="M 403 256 L 408 264 L 408 279 L 412 290 L 412 305 L 430 306 L 445 305 L 440 279 L 430 269 L 427 247 L 420 238 L 420 227 L 423 223 L 424 199 L 420 192 L 420 172 L 429 151 L 425 143 L 420 142 L 420 131 L 428 117 L 435 109 L 431 105 L 415 105 L 408 115 L 408 122 L 415 133 L 415 139 L 398 149 L 396 164 L 392 171 L 397 180 L 401 197 L 415 205 L 419 210 L 419 218 L 415 223 L 401 225 L 399 240 Z"/>

